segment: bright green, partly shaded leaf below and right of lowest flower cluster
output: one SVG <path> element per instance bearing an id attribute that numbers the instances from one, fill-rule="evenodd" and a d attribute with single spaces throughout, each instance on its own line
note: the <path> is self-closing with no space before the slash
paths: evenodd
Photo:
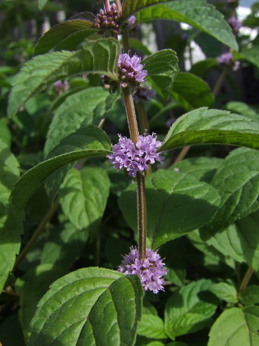
<path id="1" fill-rule="evenodd" d="M 212 281 L 193 281 L 176 291 L 165 306 L 165 333 L 176 336 L 194 333 L 211 323 L 218 301 L 207 291 Z"/>

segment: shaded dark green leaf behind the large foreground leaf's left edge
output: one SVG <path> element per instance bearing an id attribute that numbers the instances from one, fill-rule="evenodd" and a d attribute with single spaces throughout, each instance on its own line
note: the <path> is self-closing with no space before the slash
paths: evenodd
<path id="1" fill-rule="evenodd" d="M 30 336 L 28 327 L 37 310 L 38 302 L 48 291 L 49 285 L 67 272 L 64 268 L 52 264 L 40 264 L 29 270 L 22 278 L 18 277 L 15 289 L 20 294 L 18 313 L 26 343 Z"/>

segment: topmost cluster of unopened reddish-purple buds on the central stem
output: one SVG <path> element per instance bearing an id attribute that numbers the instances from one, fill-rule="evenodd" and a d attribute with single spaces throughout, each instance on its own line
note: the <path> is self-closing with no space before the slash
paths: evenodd
<path id="1" fill-rule="evenodd" d="M 115 3 L 110 9 L 100 10 L 100 13 L 95 18 L 95 27 L 100 29 L 99 34 L 103 34 L 106 30 L 112 30 L 116 34 L 121 33 L 121 25 L 123 18 L 121 11 L 118 12 Z"/>

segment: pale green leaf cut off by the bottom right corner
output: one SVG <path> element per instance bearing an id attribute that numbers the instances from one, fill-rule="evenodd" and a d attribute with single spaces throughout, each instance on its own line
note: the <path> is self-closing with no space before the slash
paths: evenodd
<path id="1" fill-rule="evenodd" d="M 258 325 L 259 307 L 227 309 L 211 327 L 208 346 L 256 346 Z"/>

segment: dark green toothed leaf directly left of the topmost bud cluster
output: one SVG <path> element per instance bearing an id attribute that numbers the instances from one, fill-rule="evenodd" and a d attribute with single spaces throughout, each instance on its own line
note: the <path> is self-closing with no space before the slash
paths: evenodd
<path id="1" fill-rule="evenodd" d="M 47 53 L 52 48 L 55 51 L 73 51 L 85 37 L 95 31 L 94 23 L 88 20 L 74 19 L 60 23 L 40 37 L 33 55 Z"/>

